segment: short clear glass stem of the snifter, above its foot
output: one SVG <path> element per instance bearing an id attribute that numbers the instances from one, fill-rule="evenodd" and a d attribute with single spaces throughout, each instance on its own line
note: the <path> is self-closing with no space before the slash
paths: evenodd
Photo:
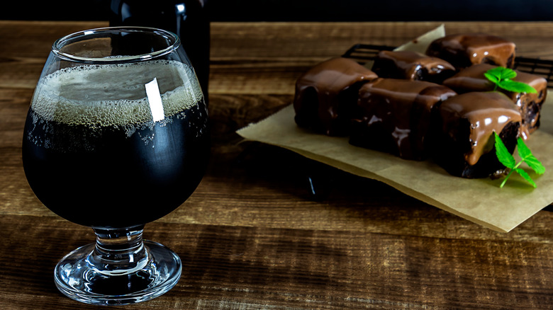
<path id="1" fill-rule="evenodd" d="M 128 275 L 141 270 L 149 260 L 142 234 L 144 225 L 125 229 L 99 229 L 96 247 L 89 256 L 89 263 L 104 275 Z"/>

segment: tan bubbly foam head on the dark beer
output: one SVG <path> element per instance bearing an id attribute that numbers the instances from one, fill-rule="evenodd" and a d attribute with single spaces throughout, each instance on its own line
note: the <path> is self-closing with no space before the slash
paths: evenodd
<path id="1" fill-rule="evenodd" d="M 31 108 L 45 120 L 69 125 L 142 125 L 152 122 L 145 85 L 154 79 L 166 116 L 203 98 L 191 67 L 159 60 L 60 69 L 40 79 Z"/>

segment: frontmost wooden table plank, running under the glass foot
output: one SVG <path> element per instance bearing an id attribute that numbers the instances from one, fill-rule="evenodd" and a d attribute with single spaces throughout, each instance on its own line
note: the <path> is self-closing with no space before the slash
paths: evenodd
<path id="1" fill-rule="evenodd" d="M 28 216 L 1 217 L 0 224 L 21 236 L 5 245 L 10 251 L 2 263 L 12 263 L 0 271 L 0 303 L 76 306 L 55 291 L 52 268 L 67 251 L 92 241 L 91 230 Z M 147 226 L 145 238 L 179 253 L 183 275 L 172 291 L 133 309 L 177 303 L 196 309 L 503 309 L 553 302 L 553 263 L 544 259 L 551 245 L 544 243 L 160 222 Z"/>

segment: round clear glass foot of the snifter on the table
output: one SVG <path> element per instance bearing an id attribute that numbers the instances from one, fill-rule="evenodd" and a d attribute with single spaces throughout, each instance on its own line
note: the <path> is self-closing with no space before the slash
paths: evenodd
<path id="1" fill-rule="evenodd" d="M 85 304 L 123 305 L 158 297 L 179 282 L 181 260 L 160 243 L 143 241 L 146 254 L 125 268 L 94 258 L 96 243 L 77 248 L 57 263 L 55 283 L 67 297 Z"/>

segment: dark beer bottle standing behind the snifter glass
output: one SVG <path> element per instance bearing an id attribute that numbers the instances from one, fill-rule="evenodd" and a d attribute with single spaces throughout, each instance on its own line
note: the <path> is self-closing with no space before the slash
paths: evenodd
<path id="1" fill-rule="evenodd" d="M 181 38 L 208 103 L 210 27 L 207 0 L 111 0 L 112 26 L 161 28 Z"/>

